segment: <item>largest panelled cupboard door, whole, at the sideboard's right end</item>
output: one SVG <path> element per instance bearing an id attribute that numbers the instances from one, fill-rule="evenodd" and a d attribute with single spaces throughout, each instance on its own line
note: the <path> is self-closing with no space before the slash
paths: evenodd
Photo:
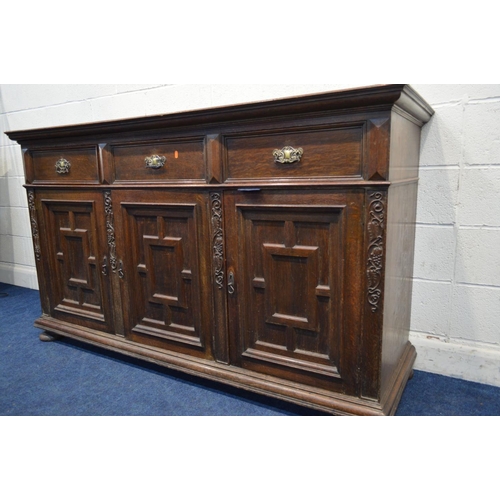
<path id="1" fill-rule="evenodd" d="M 357 391 L 362 207 L 361 192 L 226 194 L 233 364 Z"/>

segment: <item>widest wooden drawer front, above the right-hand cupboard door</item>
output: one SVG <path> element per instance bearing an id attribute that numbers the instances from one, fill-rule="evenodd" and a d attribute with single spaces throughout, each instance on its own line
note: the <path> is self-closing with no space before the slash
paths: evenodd
<path id="1" fill-rule="evenodd" d="M 363 126 L 226 136 L 226 179 L 361 177 Z"/>

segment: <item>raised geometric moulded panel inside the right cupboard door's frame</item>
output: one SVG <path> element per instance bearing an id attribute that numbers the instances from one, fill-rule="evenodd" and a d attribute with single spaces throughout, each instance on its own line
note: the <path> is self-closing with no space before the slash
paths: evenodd
<path id="1" fill-rule="evenodd" d="M 241 356 L 338 378 L 344 206 L 236 208 Z"/>

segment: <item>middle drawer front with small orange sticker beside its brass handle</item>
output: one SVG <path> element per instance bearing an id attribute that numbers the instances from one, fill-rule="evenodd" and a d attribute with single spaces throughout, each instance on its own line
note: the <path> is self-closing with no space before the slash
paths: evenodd
<path id="1" fill-rule="evenodd" d="M 205 140 L 115 146 L 115 182 L 205 181 Z"/>

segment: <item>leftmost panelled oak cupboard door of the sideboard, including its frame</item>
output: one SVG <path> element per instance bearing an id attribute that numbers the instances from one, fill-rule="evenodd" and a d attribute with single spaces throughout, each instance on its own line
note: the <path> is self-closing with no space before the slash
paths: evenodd
<path id="1" fill-rule="evenodd" d="M 36 191 L 50 315 L 113 331 L 104 199 L 94 191 Z"/>

